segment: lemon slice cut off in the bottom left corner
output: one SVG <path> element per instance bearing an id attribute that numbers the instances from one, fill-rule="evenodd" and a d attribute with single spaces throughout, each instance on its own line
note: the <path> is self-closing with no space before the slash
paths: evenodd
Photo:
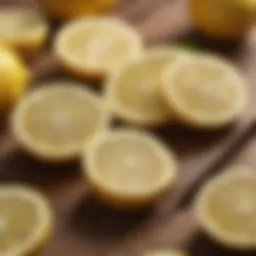
<path id="1" fill-rule="evenodd" d="M 32 255 L 52 230 L 53 213 L 43 195 L 20 185 L 0 186 L 0 255 Z"/>

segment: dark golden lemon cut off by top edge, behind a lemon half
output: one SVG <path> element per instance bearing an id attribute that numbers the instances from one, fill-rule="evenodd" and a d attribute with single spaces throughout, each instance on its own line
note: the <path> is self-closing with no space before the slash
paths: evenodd
<path id="1" fill-rule="evenodd" d="M 42 0 L 48 15 L 58 20 L 67 20 L 84 15 L 101 13 L 117 3 L 117 0 Z"/>

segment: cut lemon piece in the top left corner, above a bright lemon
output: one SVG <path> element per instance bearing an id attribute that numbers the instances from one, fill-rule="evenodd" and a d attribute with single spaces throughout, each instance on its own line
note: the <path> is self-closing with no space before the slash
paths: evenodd
<path id="1" fill-rule="evenodd" d="M 46 20 L 28 8 L 0 10 L 0 42 L 31 54 L 43 47 L 49 34 Z"/>

